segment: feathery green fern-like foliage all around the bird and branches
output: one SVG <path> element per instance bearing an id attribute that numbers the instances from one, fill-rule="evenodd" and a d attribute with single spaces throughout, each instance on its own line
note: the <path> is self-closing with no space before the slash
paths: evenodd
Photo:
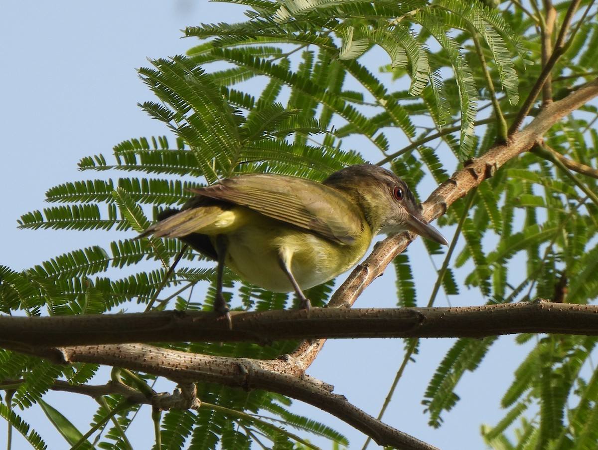
<path id="1" fill-rule="evenodd" d="M 189 27 L 185 35 L 201 41 L 186 56 L 152 60 L 139 69 L 156 97 L 140 106 L 164 123 L 169 136 L 132 138 L 115 145 L 110 156 L 83 158 L 82 171 L 106 178 L 52 187 L 46 197 L 54 205 L 19 221 L 26 229 L 127 234 L 106 248 L 66 251 L 22 272 L 0 266 L 0 312 L 99 314 L 129 309 L 135 302 L 149 309 L 209 308 L 214 270 L 201 266 L 202 257 L 170 239 L 129 239 L 162 209 L 189 199 L 190 188 L 248 172 L 322 180 L 343 166 L 378 160 L 392 163 L 414 193 L 428 191 L 426 180 L 442 183 L 459 163 L 493 146 L 499 123 L 518 112 L 520 96 L 530 92 L 542 70 L 541 11 L 523 10 L 517 2 L 494 2 L 492 8 L 483 5 L 489 2 L 463 0 L 233 2 L 252 8 L 246 22 Z M 581 4 L 591 7 L 587 1 Z M 563 22 L 567 7 L 567 2 L 556 6 L 557 23 Z M 596 17 L 593 8 L 590 19 Z M 557 99 L 598 71 L 598 24 L 582 20 L 588 17 L 574 18 L 568 47 L 551 72 Z M 493 101 L 489 113 L 486 106 Z M 582 109 L 584 114 L 554 126 L 544 142 L 596 167 L 598 111 L 594 105 Z M 129 172 L 135 174 L 126 176 Z M 587 191 L 595 192 L 597 183 L 579 179 L 581 184 L 572 183 L 553 163 L 526 154 L 481 184 L 471 208 L 454 203 L 439 220 L 443 226 L 462 224 L 455 256 L 447 257 L 450 267 L 438 275 L 446 295 L 458 294 L 464 285 L 487 303 L 538 296 L 579 304 L 596 299 L 598 205 Z M 442 253 L 429 242 L 426 248 L 432 257 Z M 162 291 L 181 251 L 182 261 Z M 416 306 L 410 259 L 399 256 L 395 269 L 399 305 Z M 562 288 L 557 300 L 563 280 L 568 292 Z M 198 285 L 205 289 L 194 290 Z M 331 286 L 307 292 L 312 303 L 324 305 Z M 236 288 L 236 308 L 292 306 L 286 294 L 239 282 L 228 272 L 225 287 L 229 297 Z M 520 340 L 525 339 L 532 340 Z M 443 414 L 456 405 L 462 376 L 477 369 L 495 341 L 460 339 L 447 353 L 423 399 L 432 426 L 440 426 Z M 594 338 L 579 336 L 538 338 L 505 393 L 505 417 L 495 427 L 483 427 L 487 443 L 513 449 L 591 448 L 598 439 L 598 375 L 591 366 L 595 344 Z M 276 358 L 295 343 L 163 345 Z M 93 364 L 59 369 L 38 358 L 0 352 L 0 379 L 19 380 L 12 404 L 20 408 L 39 402 L 57 378 L 83 384 L 96 371 Z M 332 445 L 349 445 L 324 424 L 292 413 L 283 396 L 213 384 L 198 385 L 198 390 L 202 402 L 212 407 L 164 413 L 162 448 L 249 448 L 261 440 L 271 448 L 306 445 L 289 427 L 324 436 Z M 117 396 L 102 399 L 92 425 L 104 424 L 121 404 Z M 119 411 L 103 425 L 97 447 L 127 448 L 126 428 L 137 409 Z M 45 411 L 62 423 L 57 425 L 62 430 L 70 428 L 60 413 L 51 407 Z M 34 448 L 45 448 L 4 403 L 0 414 Z M 517 427 L 515 443 L 507 437 L 511 427 Z"/>

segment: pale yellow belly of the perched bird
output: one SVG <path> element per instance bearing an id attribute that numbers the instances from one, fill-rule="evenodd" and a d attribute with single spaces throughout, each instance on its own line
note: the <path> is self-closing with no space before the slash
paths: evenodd
<path id="1" fill-rule="evenodd" d="M 313 233 L 285 227 L 260 216 L 225 233 L 225 263 L 240 278 L 274 292 L 293 287 L 280 268 L 280 259 L 291 269 L 301 289 L 322 284 L 359 262 L 371 242 L 366 229 L 352 245 L 337 244 Z"/>

